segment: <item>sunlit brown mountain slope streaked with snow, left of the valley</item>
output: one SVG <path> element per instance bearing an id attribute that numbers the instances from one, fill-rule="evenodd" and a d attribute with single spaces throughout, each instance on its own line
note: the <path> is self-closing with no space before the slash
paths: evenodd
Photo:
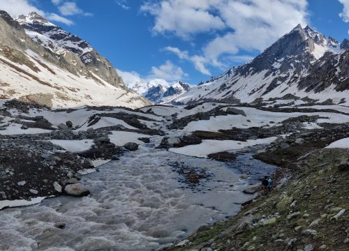
<path id="1" fill-rule="evenodd" d="M 0 11 L 1 99 L 50 107 L 150 104 L 129 91 L 110 62 L 86 41 L 36 13 L 17 21 Z"/>

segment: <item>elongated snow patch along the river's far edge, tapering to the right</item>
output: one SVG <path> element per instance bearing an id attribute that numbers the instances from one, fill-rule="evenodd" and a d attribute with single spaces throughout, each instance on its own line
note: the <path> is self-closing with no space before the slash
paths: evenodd
<path id="1" fill-rule="evenodd" d="M 181 148 L 172 148 L 169 149 L 169 151 L 198 158 L 207 158 L 207 155 L 211 153 L 244 149 L 246 146 L 255 146 L 258 144 L 270 144 L 276 139 L 277 137 L 269 137 L 266 139 L 248 139 L 246 142 L 239 142 L 235 140 L 205 139 L 201 144 L 184 146 Z"/>

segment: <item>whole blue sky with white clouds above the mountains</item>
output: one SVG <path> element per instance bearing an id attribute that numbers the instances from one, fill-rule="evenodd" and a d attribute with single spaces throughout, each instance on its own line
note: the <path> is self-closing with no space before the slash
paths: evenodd
<path id="1" fill-rule="evenodd" d="M 198 84 L 251 61 L 297 24 L 341 41 L 349 0 L 0 0 L 87 40 L 128 84 Z"/>

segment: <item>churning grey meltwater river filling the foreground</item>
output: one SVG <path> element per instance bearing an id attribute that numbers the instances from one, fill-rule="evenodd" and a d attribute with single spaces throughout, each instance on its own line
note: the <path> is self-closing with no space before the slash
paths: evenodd
<path id="1" fill-rule="evenodd" d="M 140 146 L 84 176 L 91 188 L 88 197 L 62 196 L 1 211 L 0 250 L 156 250 L 235 215 L 249 199 L 242 193 L 246 181 L 234 166 L 152 146 Z M 240 157 L 237 165 L 248 161 L 255 160 Z M 198 188 L 187 188 L 172 162 L 200 167 L 211 177 Z M 258 169 L 264 175 L 274 167 Z M 54 227 L 60 222 L 65 229 Z"/>

